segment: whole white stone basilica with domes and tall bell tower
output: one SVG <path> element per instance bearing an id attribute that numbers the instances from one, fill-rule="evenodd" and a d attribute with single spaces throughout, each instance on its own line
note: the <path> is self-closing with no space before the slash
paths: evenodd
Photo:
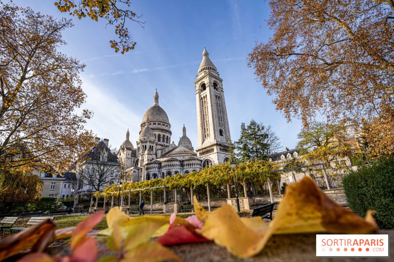
<path id="1" fill-rule="evenodd" d="M 230 159 L 230 128 L 223 92 L 223 80 L 209 59 L 202 53 L 202 61 L 195 81 L 197 103 L 198 146 L 194 152 L 190 139 L 183 136 L 178 145 L 171 141 L 171 124 L 159 105 L 156 90 L 153 106 L 142 118 L 136 148 L 126 140 L 118 151 L 121 176 L 125 182 L 137 182 L 167 175 L 188 174 L 206 166 L 226 163 Z"/>

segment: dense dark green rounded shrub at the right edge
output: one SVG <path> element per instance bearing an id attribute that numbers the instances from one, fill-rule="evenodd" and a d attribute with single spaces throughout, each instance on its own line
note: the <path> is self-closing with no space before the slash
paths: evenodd
<path id="1" fill-rule="evenodd" d="M 359 167 L 343 179 L 350 208 L 364 217 L 374 215 L 379 228 L 394 228 L 394 157 L 381 157 L 370 165 Z"/>

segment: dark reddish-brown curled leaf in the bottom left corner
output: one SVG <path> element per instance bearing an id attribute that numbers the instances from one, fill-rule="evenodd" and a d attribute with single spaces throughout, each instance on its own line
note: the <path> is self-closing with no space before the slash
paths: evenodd
<path id="1" fill-rule="evenodd" d="M 56 224 L 46 219 L 19 233 L 7 236 L 0 242 L 0 261 L 28 248 L 33 252 L 43 251 L 55 240 Z"/>

